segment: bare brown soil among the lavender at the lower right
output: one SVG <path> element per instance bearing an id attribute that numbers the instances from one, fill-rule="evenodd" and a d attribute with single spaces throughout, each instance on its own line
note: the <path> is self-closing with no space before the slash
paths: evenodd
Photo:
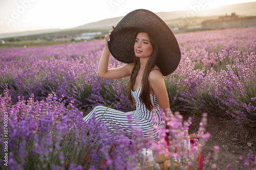
<path id="1" fill-rule="evenodd" d="M 183 115 L 184 120 L 189 116 Z M 247 155 L 249 150 L 256 156 L 256 125 L 251 124 L 236 124 L 230 117 L 208 116 L 208 125 L 206 131 L 211 134 L 210 139 L 203 147 L 203 156 L 206 160 L 210 153 L 210 159 L 205 169 L 227 169 L 227 165 L 230 164 L 231 169 L 239 169 L 239 158 L 242 156 L 243 169 L 244 160 L 248 159 Z M 199 123 L 201 122 L 201 115 L 196 115 L 194 123 L 189 127 L 189 133 L 197 132 Z M 214 160 L 214 147 L 218 145 L 219 159 Z M 211 165 L 217 164 L 217 168 L 211 168 Z M 251 169 L 251 168 L 250 168 Z"/>

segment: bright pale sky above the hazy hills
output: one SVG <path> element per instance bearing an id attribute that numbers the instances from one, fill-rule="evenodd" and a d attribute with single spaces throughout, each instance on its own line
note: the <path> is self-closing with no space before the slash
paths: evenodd
<path id="1" fill-rule="evenodd" d="M 0 34 L 68 29 L 136 9 L 169 12 L 215 8 L 250 0 L 0 0 Z"/>

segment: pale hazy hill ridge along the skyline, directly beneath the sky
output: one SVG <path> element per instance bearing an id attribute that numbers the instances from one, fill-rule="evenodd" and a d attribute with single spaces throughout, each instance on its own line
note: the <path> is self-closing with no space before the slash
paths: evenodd
<path id="1" fill-rule="evenodd" d="M 162 18 L 169 27 L 171 28 L 186 28 L 196 25 L 201 25 L 204 20 L 217 19 L 219 16 L 235 12 L 239 16 L 256 16 L 256 2 L 242 3 L 221 6 L 218 8 L 200 10 L 194 12 L 193 9 L 186 11 L 172 11 L 172 12 L 157 12 L 156 14 Z M 192 17 L 191 17 L 192 14 Z M 78 30 L 110 30 L 112 26 L 116 26 L 117 23 L 122 19 L 123 16 L 103 19 L 97 22 L 86 23 L 84 25 L 70 28 L 70 29 L 51 29 L 51 30 L 38 30 L 28 32 L 18 32 L 11 34 L 0 34 L 0 38 L 8 37 L 20 37 L 36 34 L 47 34 L 47 33 L 67 33 L 77 32 Z"/>

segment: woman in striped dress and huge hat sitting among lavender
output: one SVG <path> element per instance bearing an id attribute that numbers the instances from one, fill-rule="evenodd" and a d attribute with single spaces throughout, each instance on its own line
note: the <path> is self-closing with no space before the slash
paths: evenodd
<path id="1" fill-rule="evenodd" d="M 133 127 L 142 130 L 145 141 L 159 140 L 157 132 L 166 126 L 160 109 L 169 109 L 163 76 L 177 68 L 181 56 L 175 36 L 156 14 L 140 9 L 127 14 L 116 28 L 113 26 L 104 41 L 97 75 L 105 79 L 131 76 L 127 94 L 136 110 L 125 113 L 97 106 L 84 120 L 95 113 L 111 135 L 116 134 L 116 129 L 122 129 L 125 137 L 132 140 L 131 123 L 127 119 L 127 114 L 131 114 Z M 127 64 L 109 69 L 110 54 Z"/>

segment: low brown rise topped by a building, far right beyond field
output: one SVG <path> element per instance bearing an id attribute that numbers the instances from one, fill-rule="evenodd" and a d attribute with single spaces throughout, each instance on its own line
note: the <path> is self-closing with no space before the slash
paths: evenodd
<path id="1" fill-rule="evenodd" d="M 202 29 L 229 29 L 256 27 L 256 16 L 239 17 L 236 13 L 220 16 L 217 20 L 206 20 L 202 22 Z"/>

